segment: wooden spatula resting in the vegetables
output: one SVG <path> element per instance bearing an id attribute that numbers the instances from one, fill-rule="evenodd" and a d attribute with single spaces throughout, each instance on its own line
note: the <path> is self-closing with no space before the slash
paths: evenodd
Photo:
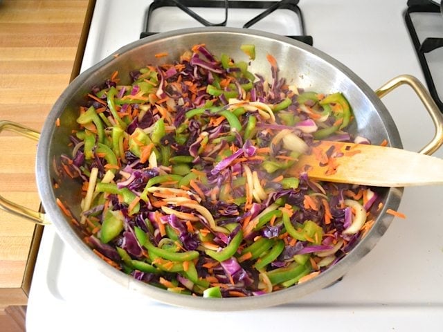
<path id="1" fill-rule="evenodd" d="M 377 145 L 318 141 L 290 174 L 338 183 L 406 187 L 443 184 L 443 159 Z"/>

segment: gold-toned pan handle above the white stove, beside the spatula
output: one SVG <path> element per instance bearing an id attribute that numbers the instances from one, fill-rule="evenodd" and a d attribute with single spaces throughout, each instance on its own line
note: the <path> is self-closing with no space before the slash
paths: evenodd
<path id="1" fill-rule="evenodd" d="M 416 77 L 411 75 L 399 75 L 397 77 L 392 78 L 389 82 L 381 86 L 379 89 L 375 91 L 379 98 L 382 98 L 390 91 L 396 89 L 398 86 L 402 84 L 408 84 L 415 93 L 418 98 L 422 100 L 424 107 L 428 111 L 431 119 L 434 123 L 435 134 L 431 142 L 423 147 L 419 153 L 420 154 L 433 154 L 440 146 L 443 144 L 443 115 L 440 113 L 440 109 L 438 109 L 437 104 L 435 104 L 431 95 L 429 95 L 427 89 L 424 87 L 422 82 L 420 82 Z"/>

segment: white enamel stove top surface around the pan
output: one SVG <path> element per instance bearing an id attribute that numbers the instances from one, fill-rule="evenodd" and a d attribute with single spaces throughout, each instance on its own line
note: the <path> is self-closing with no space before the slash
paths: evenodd
<path id="1" fill-rule="evenodd" d="M 314 46 L 373 89 L 404 73 L 424 82 L 402 17 L 406 0 L 300 2 Z M 134 13 L 145 12 L 147 3 L 97 1 L 82 70 L 138 39 L 145 17 Z M 383 102 L 405 149 L 418 151 L 431 140 L 433 124 L 410 88 Z M 442 149 L 435 156 L 442 158 Z M 442 197 L 443 186 L 406 188 L 399 211 L 407 219 L 394 219 L 341 282 L 284 306 L 233 313 L 174 308 L 129 292 L 77 257 L 49 226 L 35 267 L 27 331 L 442 331 Z"/>

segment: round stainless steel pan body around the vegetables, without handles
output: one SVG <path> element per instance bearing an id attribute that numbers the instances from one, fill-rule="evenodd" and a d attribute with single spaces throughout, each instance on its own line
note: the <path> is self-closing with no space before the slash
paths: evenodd
<path id="1" fill-rule="evenodd" d="M 42 138 L 39 142 L 37 178 L 39 178 L 39 192 L 42 203 L 48 216 L 64 241 L 73 246 L 80 255 L 96 261 L 96 265 L 104 273 L 116 279 L 120 284 L 125 284 L 128 288 L 136 288 L 138 291 L 171 304 L 205 308 L 203 304 L 198 302 L 198 299 L 183 299 L 183 295 L 177 297 L 177 295 L 166 294 L 167 292 L 153 289 L 154 287 L 141 285 L 141 283 L 130 280 L 127 275 L 107 266 L 87 248 L 82 241 L 82 234 L 78 232 L 77 228 L 73 227 L 70 218 L 62 214 L 55 203 L 57 198 L 62 200 L 69 207 L 73 216 L 79 218 L 82 183 L 63 176 L 54 165 L 59 163 L 62 154 L 71 155 L 69 136 L 73 130 L 78 129 L 76 119 L 79 115 L 79 107 L 84 106 L 85 95 L 91 91 L 91 88 L 100 86 L 111 77 L 114 71 L 118 71 L 121 84 L 130 84 L 130 71 L 142 68 L 147 64 L 156 65 L 173 62 L 195 44 L 205 44 L 206 48 L 217 56 L 226 53 L 233 59 L 244 61 L 249 60 L 240 46 L 242 44 L 254 44 L 256 58 L 251 61 L 250 71 L 252 73 L 260 73 L 264 77 L 271 77 L 271 66 L 266 59 L 266 55 L 271 54 L 278 62 L 280 77 L 286 77 L 288 84 L 293 84 L 300 89 L 305 89 L 305 91 L 319 93 L 339 91 L 345 95 L 355 115 L 354 122 L 347 131 L 364 136 L 375 145 L 387 140 L 388 145 L 401 147 L 401 142 L 397 128 L 388 111 L 374 92 L 359 77 L 343 64 L 336 62 L 336 60 L 315 48 L 267 33 L 259 33 L 253 30 L 245 32 L 242 29 L 235 28 L 197 28 L 164 33 L 125 46 L 82 73 L 57 100 L 48 116 L 48 120 L 46 120 Z M 161 58 L 155 57 L 159 53 L 168 53 L 168 55 Z M 57 119 L 60 119 L 60 127 L 54 125 Z M 55 183 L 58 184 L 56 188 L 54 187 Z M 398 207 L 400 196 L 401 190 L 386 189 L 381 193 L 381 201 L 385 203 L 386 208 L 389 207 L 395 210 Z M 382 212 L 378 213 L 381 215 Z M 388 227 L 391 219 L 388 217 L 377 218 L 368 236 L 354 248 L 350 255 L 345 257 L 343 264 L 337 264 L 327 273 L 315 278 L 318 280 L 313 280 L 307 285 L 294 286 L 287 291 L 276 292 L 275 295 L 263 297 L 263 303 L 256 303 L 257 299 L 245 299 L 235 301 L 238 305 L 226 305 L 219 302 L 214 304 L 212 308 L 238 310 L 243 308 L 244 304 L 241 303 L 244 301 L 251 301 L 251 303 L 254 301 L 253 304 L 248 304 L 249 308 L 269 306 L 287 302 L 291 297 L 298 297 L 327 286 L 327 284 L 331 284 L 341 277 L 351 264 L 358 261 L 374 246 Z"/>

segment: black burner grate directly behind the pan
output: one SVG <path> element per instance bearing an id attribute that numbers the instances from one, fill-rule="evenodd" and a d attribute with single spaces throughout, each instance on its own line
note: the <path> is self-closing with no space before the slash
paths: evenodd
<path id="1" fill-rule="evenodd" d="M 263 10 L 259 15 L 253 19 L 247 21 L 243 28 L 250 28 L 258 21 L 264 19 L 264 17 L 270 15 L 272 12 L 278 9 L 287 9 L 298 15 L 300 21 L 301 35 L 289 35 L 293 39 L 297 39 L 301 42 L 312 46 L 312 37 L 306 35 L 305 24 L 300 8 L 298 7 L 299 0 L 282 0 L 282 1 L 236 1 L 236 0 L 154 0 L 147 10 L 147 18 L 145 24 L 145 31 L 141 33 L 141 38 L 155 34 L 156 32 L 150 31 L 150 20 L 152 19 L 152 13 L 154 10 L 163 7 L 178 7 L 183 12 L 186 12 L 190 17 L 194 18 L 203 26 L 226 26 L 228 21 L 229 8 L 241 8 L 241 9 L 260 9 Z M 224 20 L 220 23 L 212 23 L 206 21 L 203 17 L 198 15 L 191 8 L 225 8 Z"/>

